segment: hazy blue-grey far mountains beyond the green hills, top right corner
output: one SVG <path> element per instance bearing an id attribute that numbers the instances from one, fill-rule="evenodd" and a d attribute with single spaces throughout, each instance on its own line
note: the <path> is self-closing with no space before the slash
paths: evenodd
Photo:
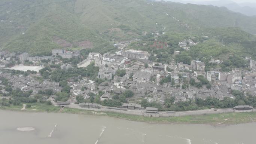
<path id="1" fill-rule="evenodd" d="M 193 0 L 166 0 L 178 3 L 191 3 L 213 5 L 218 7 L 226 7 L 233 12 L 239 12 L 247 16 L 256 16 L 256 3 L 235 3 L 231 0 L 217 0 L 217 1 L 193 1 Z"/>

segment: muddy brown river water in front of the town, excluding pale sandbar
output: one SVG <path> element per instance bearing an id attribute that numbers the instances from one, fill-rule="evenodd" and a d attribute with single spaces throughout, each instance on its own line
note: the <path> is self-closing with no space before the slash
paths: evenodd
<path id="1" fill-rule="evenodd" d="M 34 130 L 17 130 L 23 127 Z M 255 134 L 256 123 L 149 124 L 105 116 L 0 110 L 0 144 L 256 144 Z"/>

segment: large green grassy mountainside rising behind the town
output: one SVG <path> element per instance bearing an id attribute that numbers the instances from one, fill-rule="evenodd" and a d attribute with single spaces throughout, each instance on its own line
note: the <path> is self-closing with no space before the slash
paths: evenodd
<path id="1" fill-rule="evenodd" d="M 1 0 L 0 48 L 48 54 L 55 48 L 103 49 L 143 32 L 203 33 L 238 27 L 256 34 L 256 18 L 225 7 L 147 0 Z M 165 28 L 165 29 L 164 29 Z"/>

